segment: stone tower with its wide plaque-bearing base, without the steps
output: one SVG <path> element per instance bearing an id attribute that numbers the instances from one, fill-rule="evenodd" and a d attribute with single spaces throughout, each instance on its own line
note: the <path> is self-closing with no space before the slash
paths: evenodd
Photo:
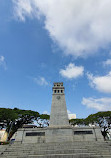
<path id="1" fill-rule="evenodd" d="M 15 141 L 22 143 L 63 143 L 75 141 L 103 141 L 99 127 L 71 127 L 69 125 L 63 82 L 53 84 L 50 123 L 47 128 L 20 128 Z"/>

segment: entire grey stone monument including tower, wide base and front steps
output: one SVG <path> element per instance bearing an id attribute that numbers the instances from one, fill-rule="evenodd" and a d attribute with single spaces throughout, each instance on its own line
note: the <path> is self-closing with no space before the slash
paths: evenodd
<path id="1" fill-rule="evenodd" d="M 21 128 L 2 158 L 111 158 L 111 143 L 104 142 L 99 127 L 69 125 L 62 82 L 53 85 L 50 124 L 46 128 Z"/>

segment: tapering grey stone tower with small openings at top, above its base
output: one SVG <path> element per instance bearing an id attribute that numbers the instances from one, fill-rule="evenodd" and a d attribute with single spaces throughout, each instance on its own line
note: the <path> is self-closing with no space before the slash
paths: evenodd
<path id="1" fill-rule="evenodd" d="M 63 82 L 54 82 L 49 127 L 69 126 Z"/>

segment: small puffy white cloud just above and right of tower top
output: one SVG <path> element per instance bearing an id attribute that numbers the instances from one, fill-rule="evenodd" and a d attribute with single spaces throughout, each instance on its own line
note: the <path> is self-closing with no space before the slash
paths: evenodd
<path id="1" fill-rule="evenodd" d="M 82 76 L 83 72 L 83 66 L 75 66 L 75 64 L 70 63 L 68 66 L 65 67 L 65 69 L 61 69 L 59 73 L 62 77 L 65 77 L 67 79 L 73 79 Z"/>

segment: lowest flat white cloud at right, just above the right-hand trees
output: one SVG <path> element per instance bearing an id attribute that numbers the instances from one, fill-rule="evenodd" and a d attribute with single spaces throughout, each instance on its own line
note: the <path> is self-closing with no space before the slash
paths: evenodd
<path id="1" fill-rule="evenodd" d="M 111 110 L 111 98 L 83 98 L 82 104 L 97 111 Z"/>

